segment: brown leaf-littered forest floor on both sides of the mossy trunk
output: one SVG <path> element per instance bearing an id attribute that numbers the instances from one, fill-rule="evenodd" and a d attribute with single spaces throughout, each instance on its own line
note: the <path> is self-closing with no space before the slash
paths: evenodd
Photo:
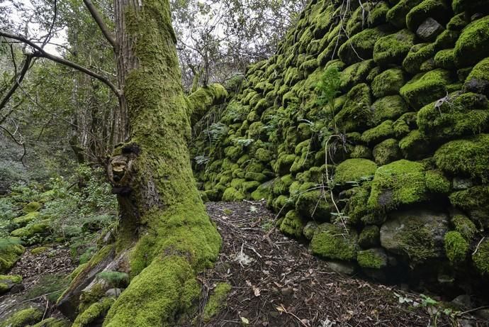
<path id="1" fill-rule="evenodd" d="M 223 236 L 223 248 L 215 267 L 198 276 L 203 292 L 193 320 L 197 326 L 489 326 L 472 311 L 446 314 L 438 304 L 425 306 L 420 294 L 333 272 L 305 245 L 276 231 L 274 214 L 262 202 L 206 206 Z M 76 264 L 61 245 L 36 255 L 31 250 L 10 272 L 23 276 L 23 289 L 0 296 L 0 321 L 26 306 L 38 306 L 46 317 L 61 315 L 55 299 Z M 220 282 L 232 287 L 225 307 L 203 321 L 206 301 Z"/>

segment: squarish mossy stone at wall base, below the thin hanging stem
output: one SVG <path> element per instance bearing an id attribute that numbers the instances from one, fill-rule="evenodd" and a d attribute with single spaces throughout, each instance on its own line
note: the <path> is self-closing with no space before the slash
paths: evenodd
<path id="1" fill-rule="evenodd" d="M 354 231 L 345 231 L 332 223 L 322 223 L 310 241 L 313 254 L 327 259 L 355 260 L 356 239 Z"/>

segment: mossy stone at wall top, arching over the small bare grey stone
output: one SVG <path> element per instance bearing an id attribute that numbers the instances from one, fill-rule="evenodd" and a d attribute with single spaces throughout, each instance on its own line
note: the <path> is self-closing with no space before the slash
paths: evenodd
<path id="1" fill-rule="evenodd" d="M 409 11 L 406 24 L 411 31 L 416 31 L 426 18 L 434 18 L 444 25 L 450 16 L 451 8 L 446 1 L 424 0 Z"/>

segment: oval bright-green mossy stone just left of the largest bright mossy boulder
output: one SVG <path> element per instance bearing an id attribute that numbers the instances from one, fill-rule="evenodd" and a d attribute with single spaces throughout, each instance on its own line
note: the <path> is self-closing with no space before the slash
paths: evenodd
<path id="1" fill-rule="evenodd" d="M 335 184 L 344 185 L 359 182 L 371 177 L 377 169 L 375 162 L 367 159 L 348 159 L 340 163 L 335 170 Z"/>

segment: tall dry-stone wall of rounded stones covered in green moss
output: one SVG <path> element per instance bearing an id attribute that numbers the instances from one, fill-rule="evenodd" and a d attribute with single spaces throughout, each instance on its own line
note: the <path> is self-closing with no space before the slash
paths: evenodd
<path id="1" fill-rule="evenodd" d="M 249 67 L 193 140 L 201 194 L 266 199 L 283 233 L 372 277 L 487 282 L 489 1 L 361 2 L 311 1 Z"/>

